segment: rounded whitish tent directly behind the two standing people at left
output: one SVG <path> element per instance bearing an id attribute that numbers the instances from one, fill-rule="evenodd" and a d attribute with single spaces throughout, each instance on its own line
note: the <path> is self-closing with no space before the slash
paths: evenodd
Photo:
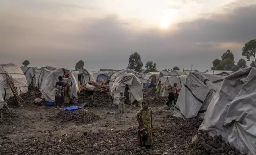
<path id="1" fill-rule="evenodd" d="M 58 81 L 59 76 L 64 76 L 65 73 L 70 74 L 70 78 L 72 79 L 72 87 L 71 87 L 71 98 L 78 99 L 78 83 L 75 79 L 75 76 L 71 73 L 70 70 L 65 68 L 59 68 L 53 71 L 48 72 L 49 75 L 45 78 L 44 84 L 41 86 L 40 91 L 42 93 L 41 98 L 45 98 L 47 101 L 55 100 L 55 84 Z"/>

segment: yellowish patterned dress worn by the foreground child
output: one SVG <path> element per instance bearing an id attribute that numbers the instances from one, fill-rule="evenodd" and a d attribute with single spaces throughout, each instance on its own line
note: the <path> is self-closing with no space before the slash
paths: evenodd
<path id="1" fill-rule="evenodd" d="M 142 139 L 142 145 L 143 146 L 151 146 L 153 145 L 153 133 L 152 133 L 152 125 L 151 125 L 151 115 L 153 114 L 153 110 L 148 107 L 148 110 L 144 110 L 141 108 L 138 112 L 137 115 L 139 115 L 140 120 L 142 121 L 141 123 L 144 125 L 145 129 L 147 130 L 147 135 L 145 138 Z"/>

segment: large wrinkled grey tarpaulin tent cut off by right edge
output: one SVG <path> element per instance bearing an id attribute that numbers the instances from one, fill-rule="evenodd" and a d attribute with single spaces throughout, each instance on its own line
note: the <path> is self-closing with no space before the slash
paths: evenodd
<path id="1" fill-rule="evenodd" d="M 221 83 L 199 130 L 221 135 L 242 153 L 256 155 L 256 68 L 243 68 Z"/>

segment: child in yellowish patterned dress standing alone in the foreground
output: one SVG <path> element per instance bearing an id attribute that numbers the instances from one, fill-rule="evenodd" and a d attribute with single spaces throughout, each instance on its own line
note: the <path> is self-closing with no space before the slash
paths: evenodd
<path id="1" fill-rule="evenodd" d="M 145 146 L 146 148 L 150 148 L 153 145 L 152 114 L 154 112 L 148 106 L 149 100 L 144 98 L 142 100 L 142 108 L 137 112 L 139 123 L 137 145 Z"/>

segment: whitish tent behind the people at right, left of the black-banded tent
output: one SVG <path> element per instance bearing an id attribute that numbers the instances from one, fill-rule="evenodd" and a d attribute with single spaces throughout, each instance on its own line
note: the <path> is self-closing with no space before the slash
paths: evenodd
<path id="1" fill-rule="evenodd" d="M 159 83 L 160 81 L 161 83 Z M 157 94 L 163 97 L 163 96 L 168 96 L 167 89 L 169 85 L 173 85 L 174 83 L 177 83 L 177 86 L 181 88 L 182 84 L 184 84 L 186 81 L 186 76 L 183 76 L 183 77 L 164 76 L 164 77 L 161 77 L 160 81 L 157 83 L 157 85 L 160 84 L 160 89 L 157 90 L 159 91 L 157 92 Z"/>

